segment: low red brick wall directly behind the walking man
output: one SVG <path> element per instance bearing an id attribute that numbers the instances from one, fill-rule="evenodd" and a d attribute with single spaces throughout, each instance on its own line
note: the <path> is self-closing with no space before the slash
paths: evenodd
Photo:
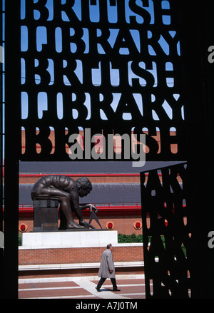
<path id="1" fill-rule="evenodd" d="M 101 262 L 105 247 L 19 249 L 19 265 Z M 143 245 L 113 247 L 114 262 L 143 261 Z"/>

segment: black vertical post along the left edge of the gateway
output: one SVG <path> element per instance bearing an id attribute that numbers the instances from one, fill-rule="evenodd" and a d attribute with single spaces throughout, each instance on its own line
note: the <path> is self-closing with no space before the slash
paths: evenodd
<path id="1" fill-rule="evenodd" d="M 20 1 L 6 1 L 5 14 L 5 169 L 4 169 L 4 298 L 18 297 L 19 226 L 19 86 Z"/>

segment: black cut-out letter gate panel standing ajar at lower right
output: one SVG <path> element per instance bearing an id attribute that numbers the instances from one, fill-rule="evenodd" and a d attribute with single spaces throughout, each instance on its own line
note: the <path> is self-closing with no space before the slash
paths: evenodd
<path id="1" fill-rule="evenodd" d="M 142 172 L 141 199 L 146 297 L 191 297 L 187 164 Z"/>

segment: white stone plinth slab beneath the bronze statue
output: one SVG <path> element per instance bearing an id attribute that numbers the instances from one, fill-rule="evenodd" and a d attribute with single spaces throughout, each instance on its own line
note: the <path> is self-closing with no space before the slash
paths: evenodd
<path id="1" fill-rule="evenodd" d="M 23 247 L 106 247 L 118 244 L 116 230 L 67 230 L 58 232 L 24 232 Z"/>

